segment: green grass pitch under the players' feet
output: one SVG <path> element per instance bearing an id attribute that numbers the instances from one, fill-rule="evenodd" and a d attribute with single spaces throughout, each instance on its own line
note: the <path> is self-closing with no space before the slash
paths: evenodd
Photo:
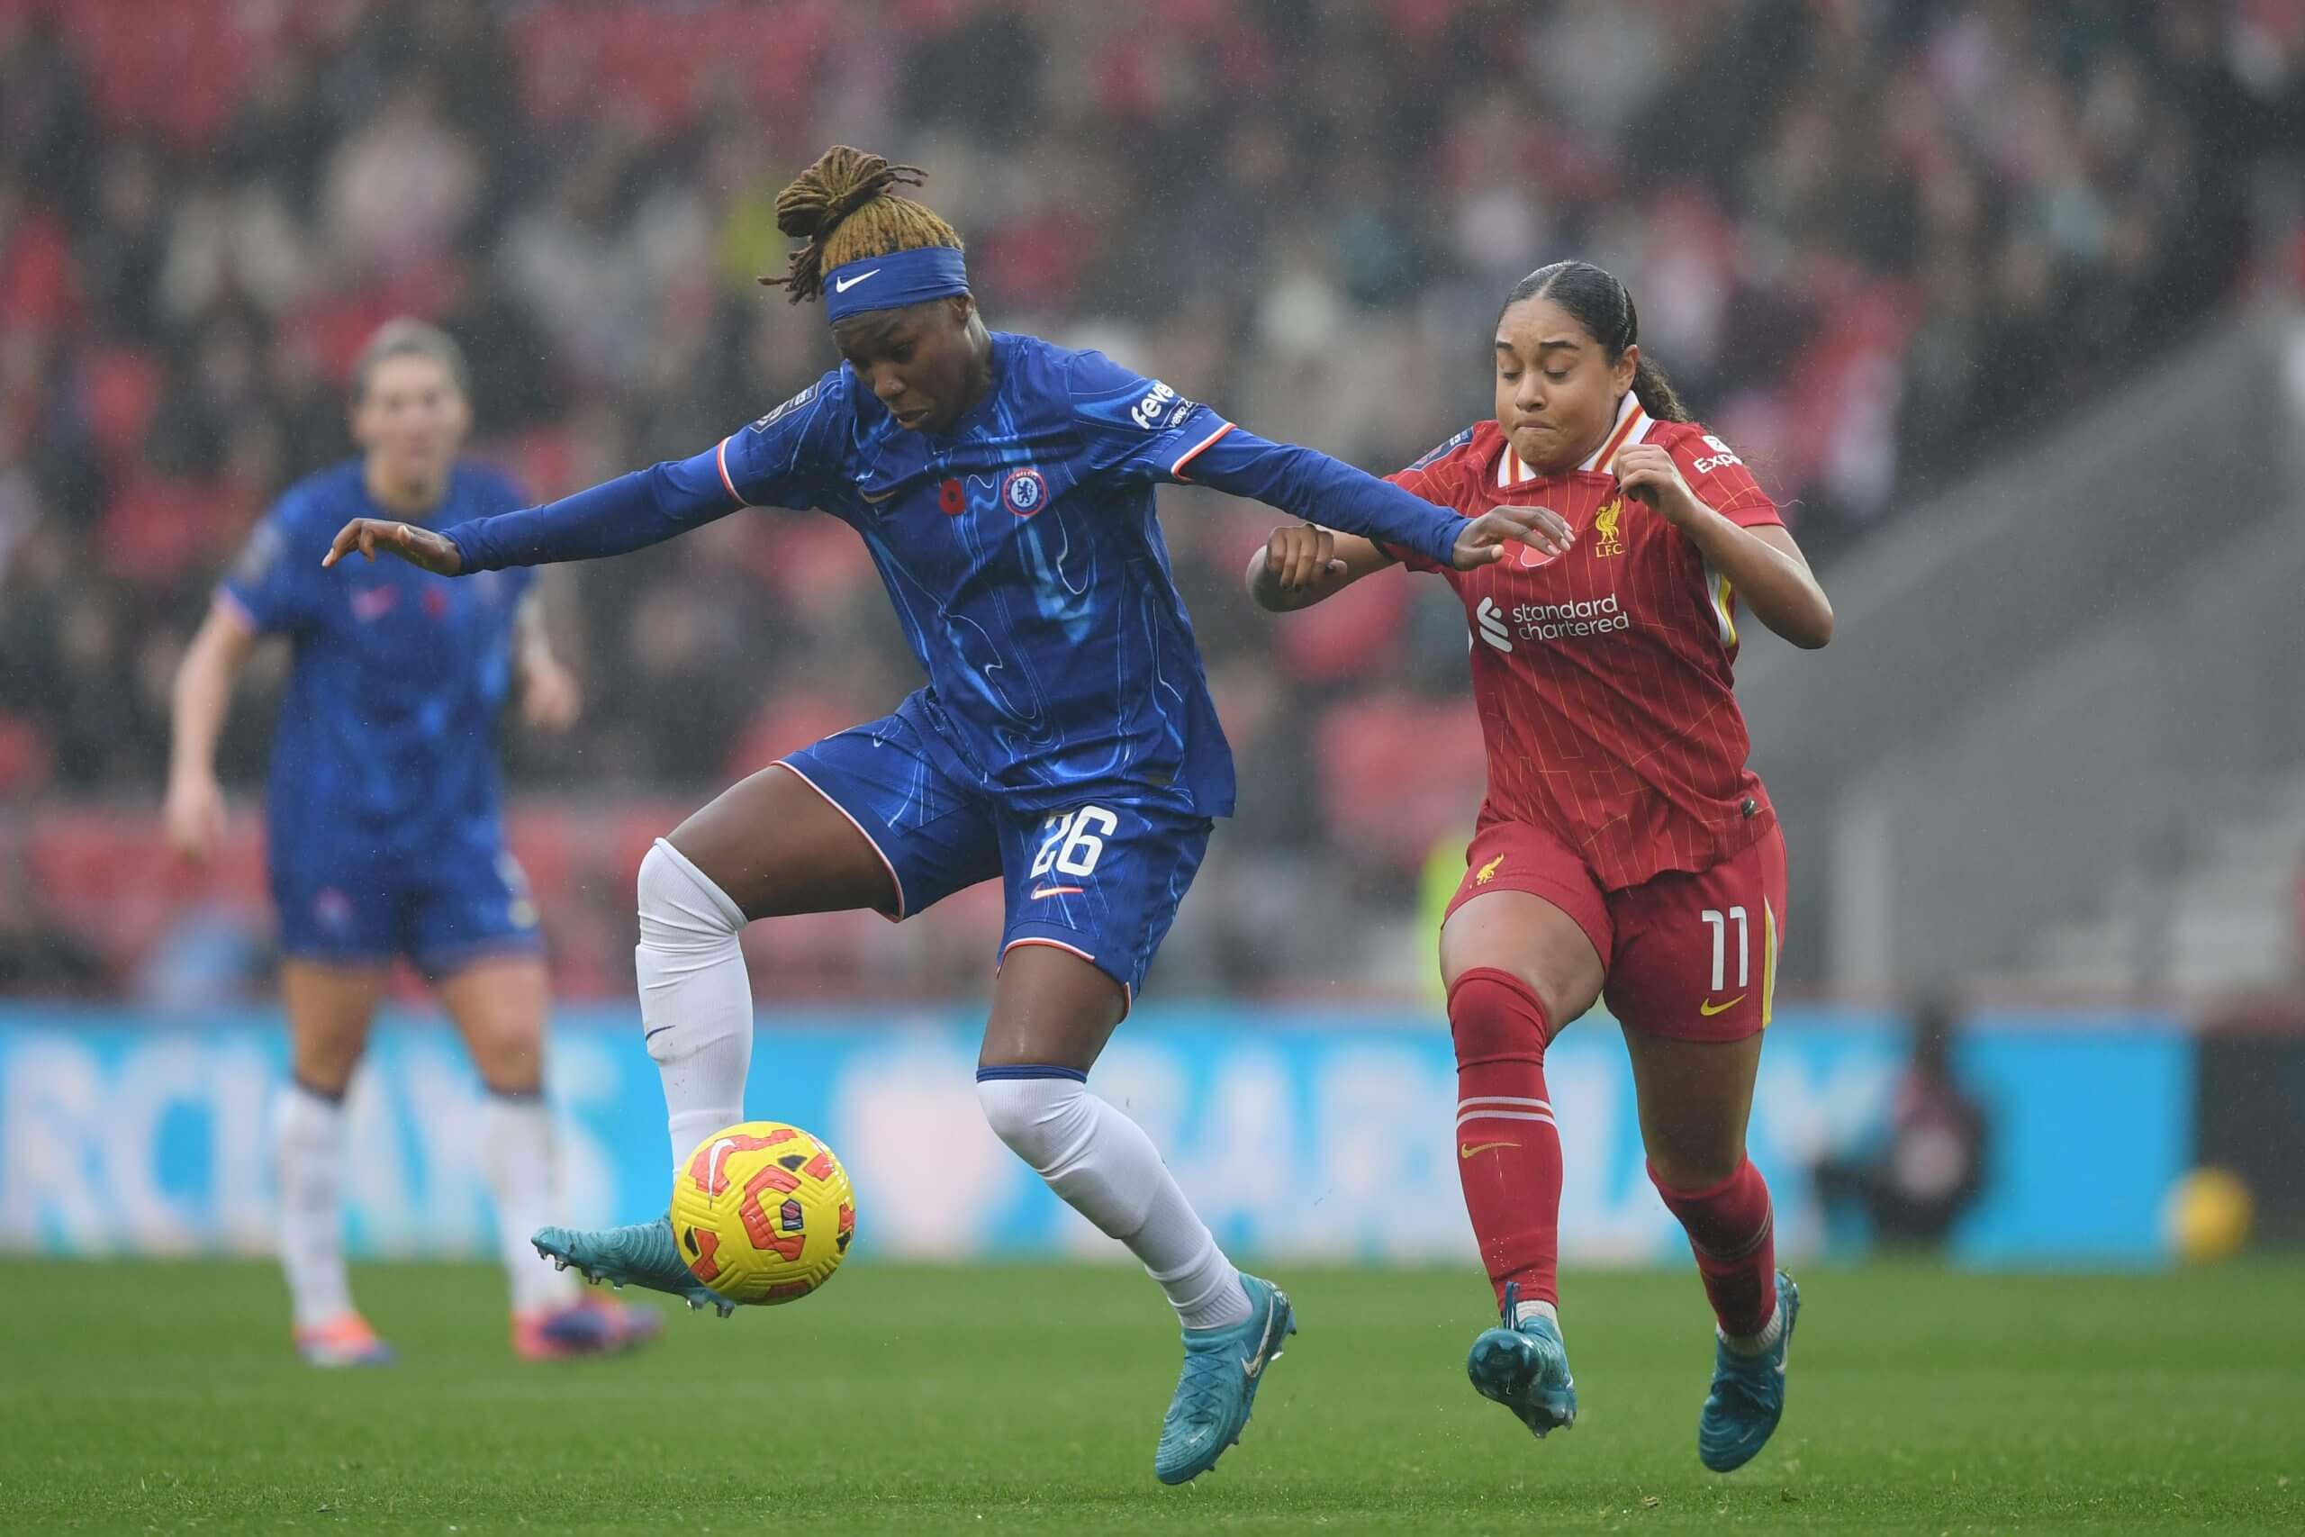
<path id="1" fill-rule="evenodd" d="M 1814 1270 L 1791 1408 L 1696 1466 L 1694 1274 L 1574 1272 L 1584 1417 L 1464 1383 L 1475 1274 L 1295 1270 L 1240 1447 L 1152 1482 L 1178 1343 L 1120 1267 L 855 1265 L 620 1362 L 514 1364 L 482 1267 L 373 1265 L 401 1348 L 307 1371 L 263 1265 L 0 1263 L 0 1530 L 2305 1530 L 2305 1263 Z"/>

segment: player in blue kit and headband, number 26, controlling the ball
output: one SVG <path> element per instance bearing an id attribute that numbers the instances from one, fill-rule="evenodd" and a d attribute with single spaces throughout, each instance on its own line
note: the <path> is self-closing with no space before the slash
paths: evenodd
<path id="1" fill-rule="evenodd" d="M 1143 984 L 1233 760 L 1152 509 L 1206 484 L 1475 567 L 1535 514 L 1466 521 L 1325 454 L 1035 336 L 989 332 L 961 240 L 897 196 L 920 173 L 846 145 L 777 198 L 804 240 L 777 279 L 823 300 L 844 364 L 694 459 L 440 532 L 346 525 L 330 551 L 431 571 L 618 555 L 740 507 L 823 509 L 871 551 L 929 687 L 726 790 L 641 864 L 641 1025 L 675 1171 L 745 1120 L 761 917 L 920 913 L 980 880 L 1007 896 L 977 1095 L 991 1129 L 1143 1260 L 1185 1334 L 1155 1472 L 1185 1482 L 1240 1438 L 1295 1330 L 1288 1297 L 1217 1249 L 1150 1138 L 1086 1078 Z M 719 1304 L 671 1226 L 539 1247 L 588 1277 Z"/>

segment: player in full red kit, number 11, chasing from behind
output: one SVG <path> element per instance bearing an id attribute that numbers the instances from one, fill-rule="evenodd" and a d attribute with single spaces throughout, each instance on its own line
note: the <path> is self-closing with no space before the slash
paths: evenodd
<path id="1" fill-rule="evenodd" d="M 1784 839 L 1745 767 L 1731 666 L 1740 611 L 1816 648 L 1832 606 L 1745 463 L 1641 357 L 1639 330 L 1609 272 L 1531 272 L 1496 320 L 1496 419 L 1392 479 L 1466 516 L 1544 509 L 1535 544 L 1445 571 L 1489 747 L 1489 797 L 1441 926 L 1457 1166 L 1503 1309 L 1466 1369 L 1537 1436 L 1577 1417 L 1544 1046 L 1607 998 L 1648 1175 L 1720 1325 L 1696 1452 L 1726 1472 L 1777 1429 L 1800 1309 L 1745 1157 L 1786 913 Z M 1256 551 L 1249 590 L 1302 608 L 1395 562 L 1441 569 L 1293 525 Z"/>

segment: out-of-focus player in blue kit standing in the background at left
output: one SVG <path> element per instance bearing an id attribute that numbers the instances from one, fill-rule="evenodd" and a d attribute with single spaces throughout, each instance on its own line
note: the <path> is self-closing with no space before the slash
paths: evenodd
<path id="1" fill-rule="evenodd" d="M 498 813 L 496 719 L 514 684 L 530 726 L 576 719 L 526 571 L 449 583 L 383 567 L 320 569 L 348 516 L 413 525 L 519 507 L 456 449 L 470 422 L 463 355 L 394 320 L 353 366 L 362 456 L 290 486 L 217 590 L 175 677 L 168 841 L 205 860 L 224 836 L 217 735 L 256 643 L 293 648 L 265 830 L 281 922 L 293 1078 L 274 1113 L 281 1265 L 295 1346 L 320 1366 L 392 1360 L 343 1274 L 343 1092 L 394 956 L 433 982 L 489 1090 L 484 1166 L 512 1279 L 512 1343 L 530 1360 L 648 1337 L 643 1309 L 585 1297 L 528 1247 L 549 1219 L 542 1097 L 546 975 L 537 915 Z"/>

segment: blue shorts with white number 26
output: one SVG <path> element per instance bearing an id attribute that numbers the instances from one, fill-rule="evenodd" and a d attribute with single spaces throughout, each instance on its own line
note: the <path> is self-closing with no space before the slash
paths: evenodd
<path id="1" fill-rule="evenodd" d="M 1134 1002 L 1201 869 L 1215 823 L 1111 795 L 1012 811 L 961 783 L 904 714 L 834 733 L 781 760 L 855 823 L 897 883 L 904 919 L 1000 878 L 1000 954 L 1056 945 Z"/>

